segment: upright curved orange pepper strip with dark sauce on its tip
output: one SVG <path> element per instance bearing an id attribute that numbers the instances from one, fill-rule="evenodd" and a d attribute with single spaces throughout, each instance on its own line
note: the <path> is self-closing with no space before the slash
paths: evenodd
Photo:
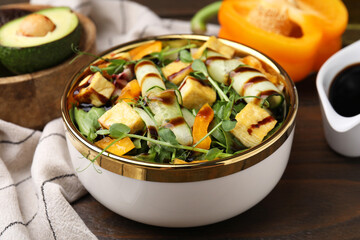
<path id="1" fill-rule="evenodd" d="M 193 141 L 194 144 L 199 142 L 208 133 L 210 122 L 214 118 L 214 111 L 208 103 L 204 104 L 195 116 L 193 125 Z M 210 149 L 211 138 L 206 137 L 203 141 L 196 145 L 197 148 Z"/>

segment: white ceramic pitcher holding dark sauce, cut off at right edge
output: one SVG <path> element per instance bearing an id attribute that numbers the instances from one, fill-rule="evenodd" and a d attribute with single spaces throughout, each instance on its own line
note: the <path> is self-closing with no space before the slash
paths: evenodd
<path id="1" fill-rule="evenodd" d="M 354 63 L 360 63 L 360 41 L 330 57 L 320 68 L 316 77 L 325 138 L 332 149 L 348 157 L 360 156 L 360 114 L 353 117 L 339 115 L 330 104 L 328 94 L 335 76 Z"/>

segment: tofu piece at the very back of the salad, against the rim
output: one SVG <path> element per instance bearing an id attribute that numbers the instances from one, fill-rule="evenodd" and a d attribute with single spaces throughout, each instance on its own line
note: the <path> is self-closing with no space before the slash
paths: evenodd
<path id="1" fill-rule="evenodd" d="M 215 36 L 211 36 L 201 47 L 192 55 L 193 58 L 198 59 L 201 58 L 202 54 L 204 53 L 205 49 L 211 49 L 217 53 L 220 53 L 225 58 L 232 58 L 235 54 L 235 49 L 229 47 L 228 45 L 222 43 L 219 39 Z"/>

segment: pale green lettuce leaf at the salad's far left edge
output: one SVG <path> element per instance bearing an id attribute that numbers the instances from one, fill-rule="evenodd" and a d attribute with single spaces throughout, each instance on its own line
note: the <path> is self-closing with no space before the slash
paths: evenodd
<path id="1" fill-rule="evenodd" d="M 100 128 L 97 121 L 105 113 L 104 108 L 92 107 L 89 112 L 74 108 L 74 120 L 83 134 L 89 141 L 93 142 L 97 137 L 96 130 Z"/>

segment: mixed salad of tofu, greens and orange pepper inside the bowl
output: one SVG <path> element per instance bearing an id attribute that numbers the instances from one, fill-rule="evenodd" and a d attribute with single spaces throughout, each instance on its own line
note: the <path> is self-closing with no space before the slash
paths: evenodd
<path id="1" fill-rule="evenodd" d="M 287 114 L 284 86 L 279 73 L 216 37 L 154 40 L 93 62 L 73 88 L 70 114 L 84 137 L 118 156 L 209 161 L 274 133 Z"/>

